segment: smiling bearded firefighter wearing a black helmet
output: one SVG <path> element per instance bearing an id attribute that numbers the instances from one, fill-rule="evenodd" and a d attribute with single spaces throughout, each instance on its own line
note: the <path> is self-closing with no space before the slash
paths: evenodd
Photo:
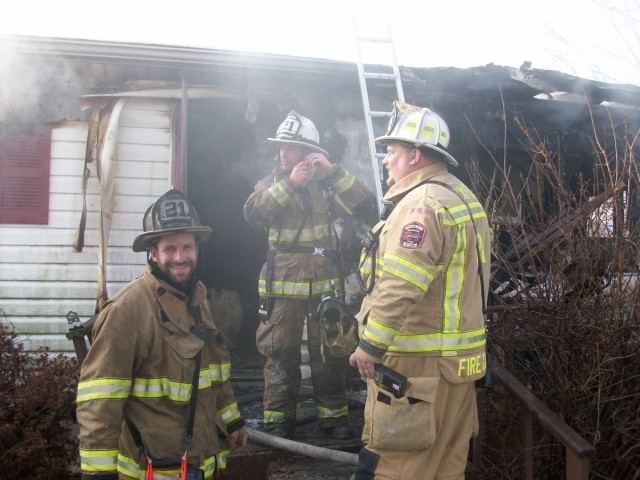
<path id="1" fill-rule="evenodd" d="M 172 189 L 147 209 L 143 229 L 133 251 L 147 252 L 145 271 L 107 301 L 81 366 L 82 478 L 212 478 L 247 434 L 197 276 L 211 228 Z"/>

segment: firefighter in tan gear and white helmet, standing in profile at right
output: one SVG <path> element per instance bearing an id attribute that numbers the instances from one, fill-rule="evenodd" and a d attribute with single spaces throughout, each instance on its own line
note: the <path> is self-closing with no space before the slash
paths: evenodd
<path id="1" fill-rule="evenodd" d="M 489 225 L 475 195 L 448 171 L 458 166 L 449 140 L 439 115 L 401 102 L 375 140 L 387 148 L 385 199 L 393 210 L 363 252 L 370 293 L 356 315 L 360 341 L 350 357 L 368 379 L 358 480 L 462 479 L 478 432 Z M 404 392 L 385 387 L 402 377 Z"/>

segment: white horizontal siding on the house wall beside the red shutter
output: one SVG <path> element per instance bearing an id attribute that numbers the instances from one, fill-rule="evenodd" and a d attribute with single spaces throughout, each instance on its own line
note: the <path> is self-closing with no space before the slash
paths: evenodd
<path id="1" fill-rule="evenodd" d="M 107 251 L 110 296 L 142 272 L 146 255 L 134 253 L 131 244 L 147 207 L 171 187 L 172 109 L 169 101 L 131 99 L 121 115 Z M 100 221 L 95 165 L 87 185 L 84 249 L 73 252 L 86 139 L 86 123 L 66 123 L 52 132 L 48 225 L 0 225 L 0 313 L 28 350 L 46 345 L 73 352 L 65 337 L 67 312 L 87 320 L 95 310 Z"/>

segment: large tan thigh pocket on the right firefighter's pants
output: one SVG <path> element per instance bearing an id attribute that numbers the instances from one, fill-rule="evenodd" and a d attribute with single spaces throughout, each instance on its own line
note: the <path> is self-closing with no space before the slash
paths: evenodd
<path id="1" fill-rule="evenodd" d="M 372 448 L 424 450 L 436 438 L 435 399 L 440 377 L 410 377 L 406 395 L 396 398 L 371 382 Z"/>

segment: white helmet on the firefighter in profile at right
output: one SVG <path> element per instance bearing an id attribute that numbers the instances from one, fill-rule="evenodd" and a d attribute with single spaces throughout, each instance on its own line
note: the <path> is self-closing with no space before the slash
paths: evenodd
<path id="1" fill-rule="evenodd" d="M 458 162 L 446 150 L 450 139 L 449 127 L 440 115 L 428 108 L 396 100 L 393 102 L 393 114 L 387 133 L 376 138 L 375 142 L 384 145 L 399 141 L 418 148 L 430 148 L 440 152 L 447 162 L 457 167 Z"/>

